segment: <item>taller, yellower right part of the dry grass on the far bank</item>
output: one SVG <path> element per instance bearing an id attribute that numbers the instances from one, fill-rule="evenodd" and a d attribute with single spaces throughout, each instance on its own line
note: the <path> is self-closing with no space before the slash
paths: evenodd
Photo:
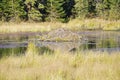
<path id="1" fill-rule="evenodd" d="M 71 20 L 68 23 L 69 28 L 76 30 L 120 30 L 120 20 L 109 21 L 103 19 Z M 75 27 L 75 28 L 74 28 Z"/>

